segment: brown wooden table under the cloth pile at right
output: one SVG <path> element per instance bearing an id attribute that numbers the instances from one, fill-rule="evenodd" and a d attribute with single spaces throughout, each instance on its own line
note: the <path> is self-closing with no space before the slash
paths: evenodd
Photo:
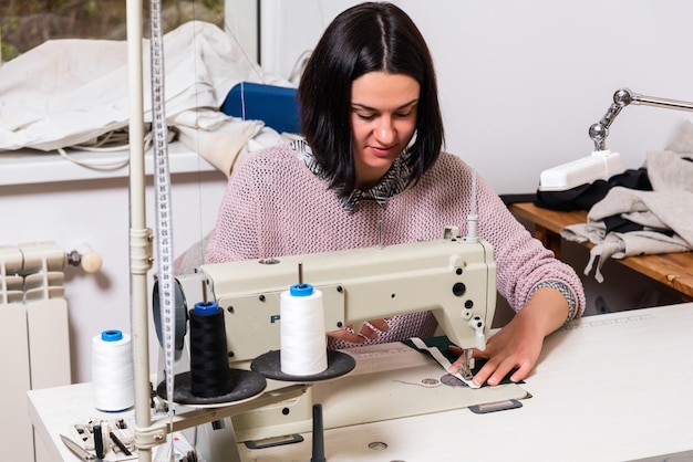
<path id="1" fill-rule="evenodd" d="M 509 206 L 516 217 L 535 224 L 535 238 L 560 258 L 560 230 L 569 224 L 587 222 L 587 211 L 559 212 L 544 209 L 531 202 L 517 202 Z M 591 243 L 585 244 L 591 248 Z M 627 259 L 617 262 L 653 279 L 681 294 L 686 301 L 693 300 L 693 252 L 662 253 Z"/>

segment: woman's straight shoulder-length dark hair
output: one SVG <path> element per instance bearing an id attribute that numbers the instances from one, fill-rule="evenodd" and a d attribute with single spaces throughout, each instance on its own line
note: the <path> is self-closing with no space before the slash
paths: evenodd
<path id="1" fill-rule="evenodd" d="M 302 133 L 330 186 L 342 196 L 353 189 L 355 175 L 351 86 L 369 72 L 406 74 L 421 86 L 407 183 L 435 162 L 444 141 L 433 59 L 411 18 L 386 2 L 343 11 L 318 42 L 298 88 Z"/>

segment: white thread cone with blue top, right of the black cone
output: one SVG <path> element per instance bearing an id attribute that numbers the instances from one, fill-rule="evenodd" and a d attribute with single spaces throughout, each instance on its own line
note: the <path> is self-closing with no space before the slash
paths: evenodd
<path id="1" fill-rule="evenodd" d="M 328 368 L 322 292 L 294 284 L 281 293 L 281 371 L 311 376 Z"/>

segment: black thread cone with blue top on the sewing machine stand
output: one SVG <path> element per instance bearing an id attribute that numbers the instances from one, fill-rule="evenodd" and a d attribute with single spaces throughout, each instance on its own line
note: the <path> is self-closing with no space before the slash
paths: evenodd
<path id="1" fill-rule="evenodd" d="M 216 302 L 195 304 L 190 309 L 190 393 L 215 398 L 229 393 L 231 369 L 228 365 L 224 311 Z"/>

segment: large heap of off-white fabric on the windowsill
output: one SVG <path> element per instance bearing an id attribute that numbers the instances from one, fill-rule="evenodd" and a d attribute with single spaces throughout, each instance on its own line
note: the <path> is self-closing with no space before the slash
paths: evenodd
<path id="1" fill-rule="evenodd" d="M 292 86 L 265 74 L 232 38 L 201 21 L 185 23 L 164 36 L 164 69 L 168 126 L 227 175 L 246 144 L 263 129 L 261 120 L 219 112 L 230 88 L 240 82 Z M 143 71 L 144 117 L 151 122 L 146 40 Z M 0 151 L 93 145 L 104 134 L 126 130 L 128 118 L 125 41 L 48 41 L 0 66 Z"/>

